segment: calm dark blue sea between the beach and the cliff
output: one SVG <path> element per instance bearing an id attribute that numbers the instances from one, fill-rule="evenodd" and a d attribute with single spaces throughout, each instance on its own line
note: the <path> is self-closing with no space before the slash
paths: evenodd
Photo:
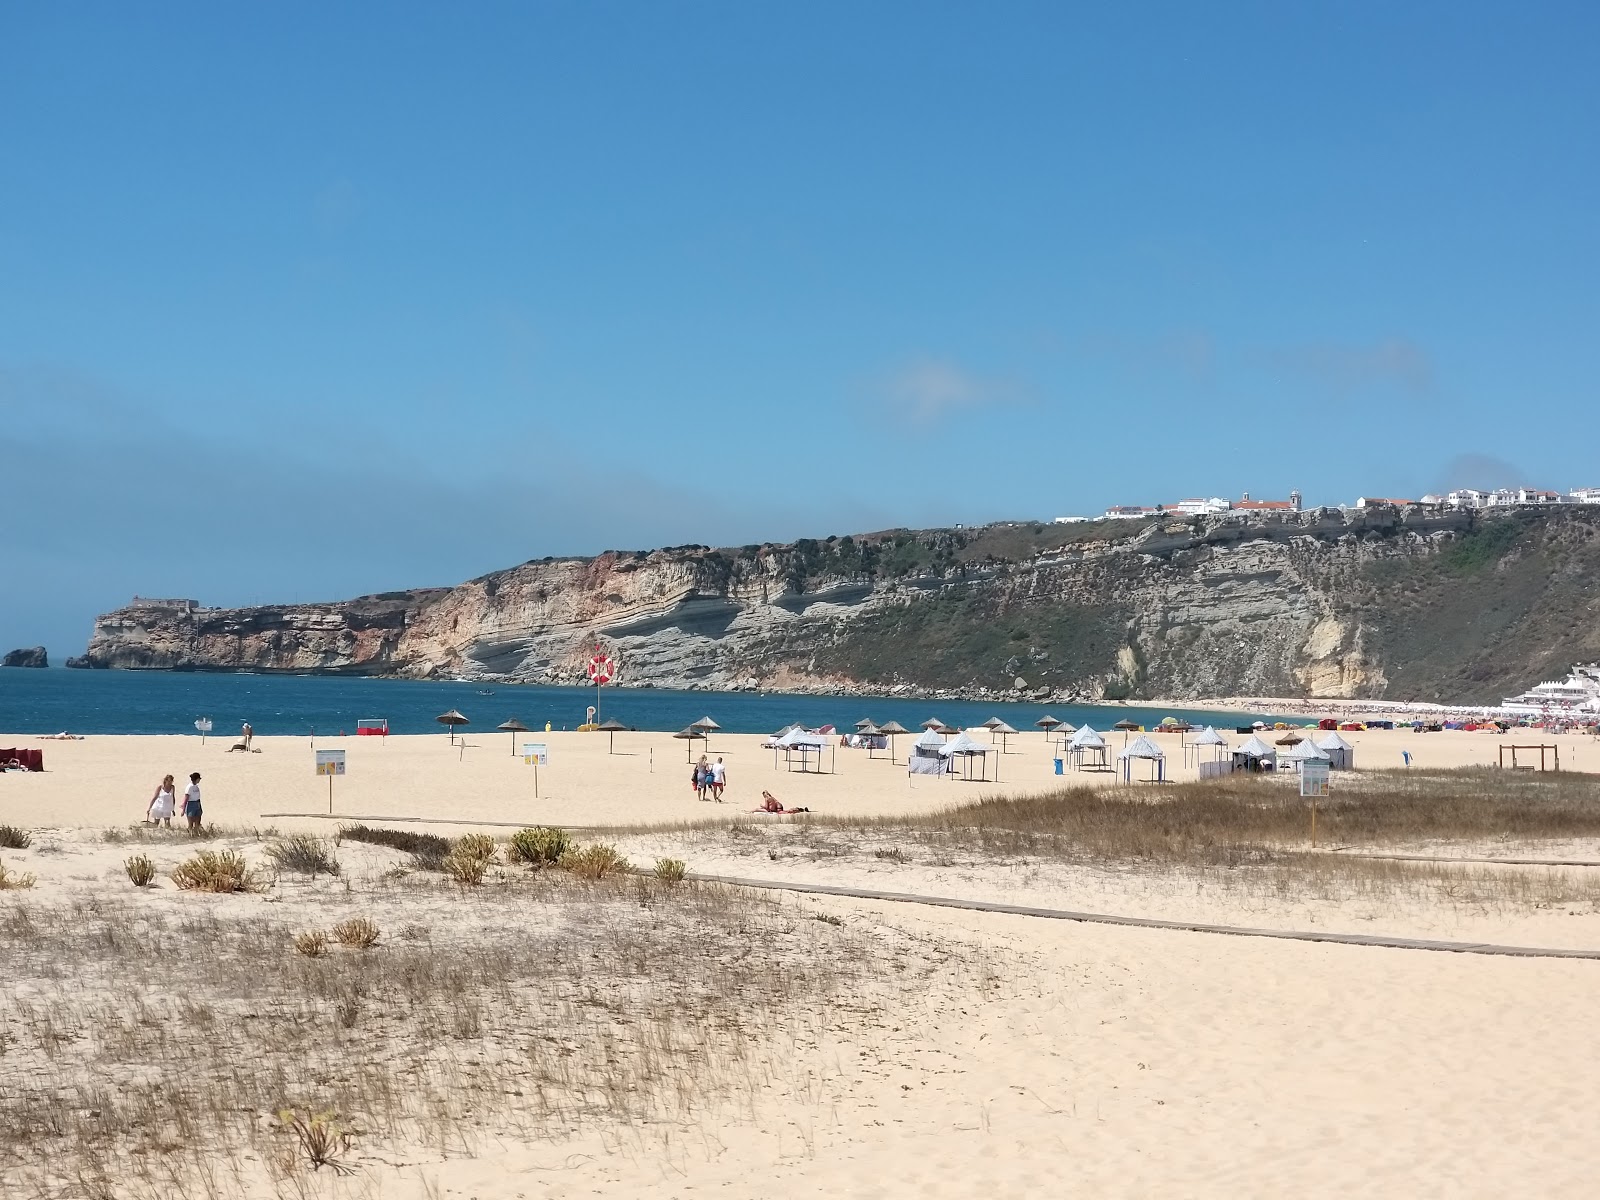
<path id="1" fill-rule="evenodd" d="M 493 696 L 482 696 L 480 688 Z M 507 717 L 528 728 L 574 728 L 595 702 L 594 688 L 533 688 L 416 680 L 330 678 L 304 675 L 202 675 L 136 670 L 0 669 L 0 731 L 40 733 L 194 733 L 197 717 L 214 722 L 214 736 L 232 736 L 242 722 L 261 734 L 354 733 L 363 717 L 387 717 L 390 733 L 440 733 L 434 718 L 459 709 L 475 730 Z M 1254 714 L 1200 714 L 1182 709 L 1077 707 L 1061 704 L 990 704 L 965 701 L 861 699 L 717 691 L 606 688 L 602 718 L 640 730 L 682 730 L 712 717 L 730 733 L 771 733 L 792 722 L 811 728 L 851 728 L 862 717 L 898 720 L 915 730 L 928 717 L 978 725 L 1000 717 L 1032 730 L 1046 712 L 1098 730 L 1130 718 L 1154 725 L 1162 717 L 1235 725 Z"/>

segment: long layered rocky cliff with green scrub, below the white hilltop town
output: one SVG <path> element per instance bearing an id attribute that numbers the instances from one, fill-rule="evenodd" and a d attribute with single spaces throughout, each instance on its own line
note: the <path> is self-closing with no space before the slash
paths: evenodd
<path id="1" fill-rule="evenodd" d="M 136 602 L 75 662 L 571 683 L 600 642 L 624 685 L 1498 699 L 1594 656 L 1597 531 L 1386 509 L 608 552 L 344 603 Z M 1462 635 L 1464 594 L 1494 637 Z"/>

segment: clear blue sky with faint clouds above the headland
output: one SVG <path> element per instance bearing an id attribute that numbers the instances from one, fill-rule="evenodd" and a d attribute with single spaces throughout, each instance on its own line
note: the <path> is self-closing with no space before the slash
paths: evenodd
<path id="1" fill-rule="evenodd" d="M 0 0 L 0 650 L 1600 483 L 1590 3 Z"/>

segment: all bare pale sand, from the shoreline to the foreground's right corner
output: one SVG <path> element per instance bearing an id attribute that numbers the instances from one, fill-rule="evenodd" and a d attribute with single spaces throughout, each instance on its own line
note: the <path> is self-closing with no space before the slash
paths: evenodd
<path id="1" fill-rule="evenodd" d="M 1232 741 L 1238 738 L 1229 734 Z M 1269 739 L 1282 736 L 1272 734 Z M 1469 733 L 1344 734 L 1358 766 L 1486 765 L 1512 738 Z M 318 739 L 349 752 L 334 808 L 370 824 L 418 821 L 458 832 L 466 821 L 520 826 L 621 826 L 734 818 L 762 789 L 789 805 L 842 814 L 909 813 L 997 792 L 1061 784 L 1110 786 L 1106 774 L 1056 778 L 1037 733 L 1011 738 L 1000 784 L 917 778 L 886 757 L 840 750 L 837 773 L 790 774 L 758 738 L 714 736 L 730 770 L 725 805 L 701 803 L 685 746 L 666 734 L 534 734 L 550 746 L 541 768 L 510 755 L 507 734 Z M 261 896 L 181 894 L 165 878 L 134 893 L 122 877 L 128 846 L 106 827 L 139 819 L 160 774 L 205 776 L 206 819 L 240 827 L 309 829 L 333 822 L 328 782 L 302 738 L 259 738 L 259 755 L 227 739 L 91 738 L 43 746 L 45 774 L 0 778 L 0 822 L 35 830 L 35 846 L 0 851 L 35 872 L 0 909 L 134 896 L 182 912 L 230 906 L 275 918 L 350 904 L 379 906 L 398 926 L 408 901 L 381 872 L 400 856 L 347 845 L 344 880 Z M 1109 734 L 1120 747 L 1122 734 Z M 1178 736 L 1174 778 L 1192 778 Z M 1586 738 L 1557 742 L 1563 768 L 1600 766 Z M 901 763 L 907 739 L 901 739 Z M 696 755 L 699 747 L 696 746 Z M 1339 776 L 1334 776 L 1334 787 Z M 494 830 L 491 832 L 507 832 Z M 909 862 L 787 853 L 786 829 L 731 848 L 725 834 L 630 834 L 637 861 L 675 851 L 691 869 L 768 878 L 936 891 L 1074 909 L 1139 910 L 1280 928 L 1349 928 L 1461 941 L 1600 947 L 1594 906 L 1496 910 L 1440 906 L 1419 893 L 1278 898 L 1213 888 L 1206 880 L 1149 882 L 1128 872 L 1074 872 L 1038 862 L 944 864 L 917 846 Z M 798 830 L 797 830 L 798 832 Z M 190 846 L 157 840 L 168 869 Z M 261 842 L 242 848 L 259 859 Z M 1600 858 L 1600 846 L 1565 846 Z M 386 890 L 387 888 L 387 890 Z M 450 904 L 430 896 L 427 920 L 446 936 Z M 824 917 L 870 938 L 888 955 L 858 1003 L 797 1013 L 776 1029 L 765 1083 L 738 1104 L 707 1106 L 670 1128 L 592 1126 L 562 1141 L 486 1138 L 470 1155 L 426 1146 L 362 1160 L 362 1173 L 306 1176 L 304 1195 L 424 1197 L 1037 1197 L 1090 1195 L 1405 1197 L 1592 1195 L 1600 1141 L 1600 1030 L 1592 1019 L 1600 962 L 1498 958 L 1262 938 L 1082 925 L 877 901 L 790 896 L 795 920 Z M 262 909 L 261 906 L 274 906 Z M 307 920 L 312 920 L 307 917 Z M 816 928 L 816 926 L 808 926 Z M 898 982 L 894 962 L 938 952 L 950 966 Z M 0 987 L 0 1003 L 6 990 Z M 867 1016 L 867 1013 L 872 1013 Z M 821 1018 L 821 1019 L 813 1019 Z M 240 1194 L 274 1195 L 245 1174 Z"/>

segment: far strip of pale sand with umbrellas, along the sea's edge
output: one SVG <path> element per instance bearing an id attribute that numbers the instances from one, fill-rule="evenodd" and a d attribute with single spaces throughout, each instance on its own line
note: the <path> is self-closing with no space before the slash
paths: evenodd
<path id="1" fill-rule="evenodd" d="M 1224 731 L 1237 746 L 1245 736 Z M 1309 733 L 1309 731 L 1302 731 Z M 979 741 L 987 734 L 978 731 Z M 1136 736 L 1136 734 L 1134 734 Z M 1170 779 L 1194 779 L 1184 765 L 1181 734 L 1150 734 L 1168 754 Z M 1282 738 L 1267 731 L 1266 741 Z M 1317 734 L 1322 736 L 1322 734 Z M 1341 734 L 1355 747 L 1357 768 L 1400 768 L 1403 752 L 1414 766 L 1491 766 L 1501 744 L 1546 742 L 1560 747 L 1563 770 L 1600 771 L 1600 744 L 1579 734 L 1549 736 L 1518 730 L 1490 733 L 1411 733 L 1371 730 Z M 125 826 L 144 818 L 163 774 L 178 778 L 179 794 L 190 771 L 200 771 L 205 816 L 232 827 L 306 829 L 328 832 L 328 779 L 318 778 L 314 749 L 342 749 L 344 776 L 333 781 L 333 811 L 344 819 L 427 821 L 445 832 L 466 822 L 562 826 L 626 826 L 731 818 L 762 803 L 771 790 L 789 808 L 835 816 L 926 811 L 966 803 L 981 795 L 1018 795 L 1061 786 L 1112 786 L 1114 773 L 1053 773 L 1058 750 L 1037 731 L 1014 734 L 1006 754 L 994 754 L 987 771 L 998 782 L 966 782 L 936 776 L 907 776 L 910 738 L 899 738 L 896 762 L 886 750 L 829 747 L 822 766 L 832 773 L 787 771 L 781 755 L 763 750 L 755 734 L 712 734 L 710 758 L 728 768 L 725 803 L 696 798 L 690 786 L 688 752 L 666 733 L 619 733 L 608 754 L 603 733 L 518 734 L 550 747 L 550 762 L 534 770 L 512 755 L 512 736 L 472 733 L 453 746 L 445 734 L 395 738 L 256 738 L 261 754 L 230 752 L 232 739 L 195 736 L 93 736 L 78 742 L 0 734 L 0 746 L 37 746 L 45 752 L 43 774 L 0 776 L 0 822 L 64 827 Z M 1122 733 L 1107 733 L 1112 762 Z M 694 742 L 694 757 L 702 742 Z M 774 765 L 776 763 L 776 765 Z M 974 766 L 976 770 L 976 766 Z M 1146 778 L 1147 763 L 1134 765 Z M 1338 776 L 1334 776 L 1338 787 Z M 307 816 L 285 816 L 307 814 Z"/>

